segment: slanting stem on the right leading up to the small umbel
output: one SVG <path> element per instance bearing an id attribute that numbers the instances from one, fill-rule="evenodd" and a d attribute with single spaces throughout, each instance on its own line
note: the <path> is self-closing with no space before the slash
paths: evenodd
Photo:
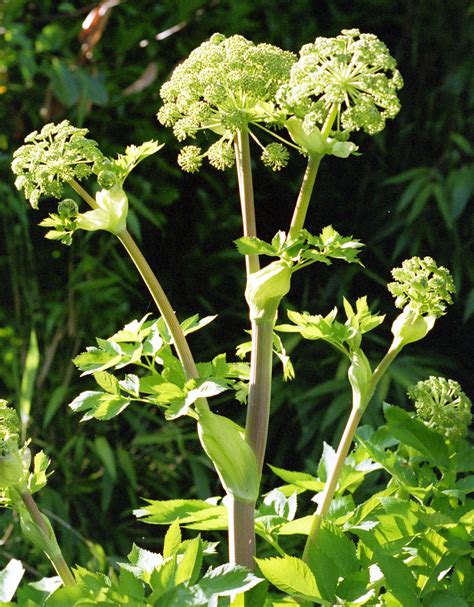
<path id="1" fill-rule="evenodd" d="M 339 477 L 341 475 L 342 468 L 344 466 L 345 459 L 349 453 L 349 450 L 352 445 L 352 441 L 354 439 L 354 435 L 359 426 L 359 422 L 361 417 L 367 408 L 367 405 L 372 398 L 372 395 L 375 391 L 375 388 L 382 378 L 385 371 L 392 364 L 395 357 L 401 351 L 400 347 L 390 347 L 384 358 L 381 360 L 377 368 L 372 374 L 372 379 L 370 381 L 370 386 L 368 390 L 368 397 L 365 406 L 363 407 L 353 407 L 351 413 L 349 415 L 349 419 L 347 420 L 346 426 L 344 428 L 343 435 L 339 442 L 339 446 L 336 451 L 336 461 L 334 466 L 329 473 L 328 479 L 324 486 L 324 491 L 321 495 L 321 501 L 319 502 L 318 508 L 313 516 L 313 522 L 311 525 L 311 529 L 308 535 L 308 539 L 306 540 L 304 552 L 303 552 L 303 560 L 308 561 L 310 552 L 314 549 L 314 546 L 317 543 L 319 529 L 321 527 L 321 523 L 324 517 L 327 515 L 329 511 L 329 507 L 331 505 L 332 499 L 336 492 L 337 483 L 339 481 Z"/>

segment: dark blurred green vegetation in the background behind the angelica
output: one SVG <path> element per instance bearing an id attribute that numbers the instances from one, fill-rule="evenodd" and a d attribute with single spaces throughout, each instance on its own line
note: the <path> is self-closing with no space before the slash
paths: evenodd
<path id="1" fill-rule="evenodd" d="M 405 78 L 402 111 L 382 134 L 360 135 L 362 156 L 325 159 L 308 225 L 317 232 L 332 223 L 360 238 L 366 268 L 298 275 L 288 305 L 322 313 L 340 306 L 343 294 L 368 294 L 391 318 L 389 269 L 412 255 L 434 257 L 453 271 L 455 306 L 393 366 L 367 421 L 380 419 L 383 399 L 400 404 L 409 384 L 435 371 L 472 398 L 473 19 L 465 0 L 0 0 L 0 395 L 30 410 L 33 444 L 53 460 L 41 506 L 55 517 L 68 560 L 104 568 L 100 545 L 113 556 L 143 542 L 130 514 L 139 497 L 207 497 L 219 489 L 185 423 L 135 410 L 106 425 L 79 425 L 66 409 L 87 389 L 71 358 L 95 336 L 154 310 L 112 238 L 81 233 L 70 248 L 43 238 L 36 224 L 48 202 L 33 213 L 16 192 L 12 152 L 30 131 L 63 118 L 86 126 L 108 154 L 150 138 L 166 142 L 130 178 L 130 227 L 180 318 L 219 313 L 192 341 L 197 359 L 232 354 L 247 328 L 242 259 L 231 244 L 240 235 L 236 180 L 232 172 L 178 170 L 176 143 L 155 118 L 160 85 L 215 31 L 295 52 L 342 28 L 377 34 Z M 303 170 L 302 158 L 276 177 L 256 163 L 262 238 L 288 225 Z M 374 340 L 374 361 L 385 343 Z M 297 377 L 275 380 L 268 460 L 314 471 L 322 441 L 334 442 L 345 419 L 345 369 L 324 345 L 287 345 L 298 347 Z M 226 413 L 231 407 L 222 401 Z M 0 566 L 25 550 L 16 521 L 0 513 Z M 29 560 L 44 572 L 42 559 Z"/>

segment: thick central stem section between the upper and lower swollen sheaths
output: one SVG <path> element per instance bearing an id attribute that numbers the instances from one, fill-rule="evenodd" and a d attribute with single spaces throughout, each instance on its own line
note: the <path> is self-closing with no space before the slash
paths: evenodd
<path id="1" fill-rule="evenodd" d="M 274 324 L 274 319 L 252 322 L 252 358 L 245 439 L 254 450 L 259 475 L 262 473 L 265 459 L 270 418 Z"/>

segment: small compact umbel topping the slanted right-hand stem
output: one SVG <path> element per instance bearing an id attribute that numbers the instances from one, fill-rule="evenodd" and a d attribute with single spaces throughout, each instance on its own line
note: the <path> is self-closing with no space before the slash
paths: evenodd
<path id="1" fill-rule="evenodd" d="M 395 297 L 397 308 L 407 306 L 422 316 L 439 318 L 452 304 L 454 282 L 446 268 L 438 267 L 431 257 L 406 259 L 400 268 L 392 270 L 395 282 L 387 285 Z"/>

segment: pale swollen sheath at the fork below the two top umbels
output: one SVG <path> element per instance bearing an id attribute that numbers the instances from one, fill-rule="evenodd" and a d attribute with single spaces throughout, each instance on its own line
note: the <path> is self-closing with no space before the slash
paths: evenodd
<path id="1" fill-rule="evenodd" d="M 247 279 L 245 299 L 252 320 L 274 319 L 281 299 L 291 285 L 291 266 L 285 261 L 273 261 Z"/>

